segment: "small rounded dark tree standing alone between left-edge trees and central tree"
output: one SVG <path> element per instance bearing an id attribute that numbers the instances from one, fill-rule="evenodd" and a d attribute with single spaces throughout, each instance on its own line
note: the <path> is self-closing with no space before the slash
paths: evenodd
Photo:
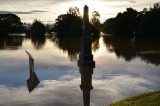
<path id="1" fill-rule="evenodd" d="M 46 33 L 45 25 L 38 20 L 34 20 L 30 29 L 31 29 L 32 35 L 34 36 L 44 36 L 44 34 Z"/>

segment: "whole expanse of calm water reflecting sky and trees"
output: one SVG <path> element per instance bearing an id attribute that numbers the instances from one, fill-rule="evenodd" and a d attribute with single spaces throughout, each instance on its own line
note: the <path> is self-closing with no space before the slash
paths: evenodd
<path id="1" fill-rule="evenodd" d="M 160 89 L 159 42 L 116 40 L 101 37 L 92 44 L 96 67 L 90 92 L 91 106 Z M 77 61 L 79 39 L 22 36 L 0 38 L 0 105 L 1 106 L 83 106 L 81 74 Z M 29 93 L 29 59 L 34 58 L 35 73 L 40 81 Z"/>

